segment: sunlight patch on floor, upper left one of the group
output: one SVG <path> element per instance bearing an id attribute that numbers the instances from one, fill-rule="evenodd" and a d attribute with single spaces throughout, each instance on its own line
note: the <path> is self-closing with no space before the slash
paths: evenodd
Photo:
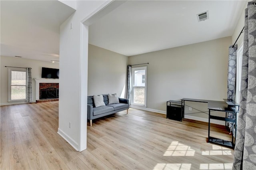
<path id="1" fill-rule="evenodd" d="M 164 156 L 194 156 L 195 150 L 191 149 L 190 146 L 173 141 L 168 149 L 164 152 Z"/>

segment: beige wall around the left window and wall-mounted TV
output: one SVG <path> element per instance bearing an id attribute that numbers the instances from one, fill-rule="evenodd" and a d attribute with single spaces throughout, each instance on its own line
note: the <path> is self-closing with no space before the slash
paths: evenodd
<path id="1" fill-rule="evenodd" d="M 32 68 L 32 101 L 36 102 L 36 83 L 33 78 L 41 78 L 42 67 L 59 68 L 59 63 L 38 61 L 33 59 L 23 59 L 17 57 L 1 56 L 1 101 L 0 105 L 10 105 L 19 103 L 8 103 L 8 68 L 12 67 L 31 67 Z"/>

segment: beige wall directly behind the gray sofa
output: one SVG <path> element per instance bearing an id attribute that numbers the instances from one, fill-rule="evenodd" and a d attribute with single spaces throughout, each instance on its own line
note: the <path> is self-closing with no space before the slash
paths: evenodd
<path id="1" fill-rule="evenodd" d="M 117 93 L 126 97 L 128 57 L 89 44 L 88 95 Z"/>

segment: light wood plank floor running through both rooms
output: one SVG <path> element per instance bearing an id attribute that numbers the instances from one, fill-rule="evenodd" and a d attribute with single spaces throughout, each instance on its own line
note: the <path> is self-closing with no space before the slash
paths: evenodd
<path id="1" fill-rule="evenodd" d="M 87 128 L 88 148 L 76 152 L 57 134 L 58 101 L 1 106 L 0 169 L 232 169 L 234 150 L 206 143 L 207 123 L 129 109 Z"/>

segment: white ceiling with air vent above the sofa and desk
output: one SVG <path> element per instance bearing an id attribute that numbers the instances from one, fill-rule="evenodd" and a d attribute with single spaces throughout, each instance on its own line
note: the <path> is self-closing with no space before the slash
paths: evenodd
<path id="1" fill-rule="evenodd" d="M 89 43 L 131 56 L 232 36 L 246 1 L 127 1 L 89 27 Z M 209 20 L 196 14 L 209 11 Z"/>

